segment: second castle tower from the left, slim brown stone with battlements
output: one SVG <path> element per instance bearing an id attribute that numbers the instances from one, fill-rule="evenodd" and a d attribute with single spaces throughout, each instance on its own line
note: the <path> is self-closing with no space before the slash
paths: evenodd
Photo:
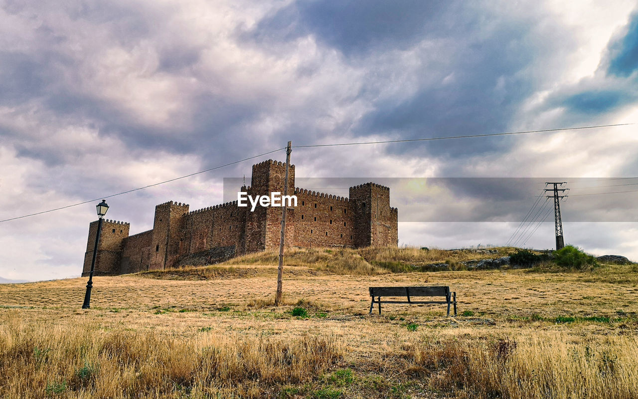
<path id="1" fill-rule="evenodd" d="M 149 270 L 171 267 L 184 248 L 184 216 L 188 204 L 165 202 L 155 207 Z"/>

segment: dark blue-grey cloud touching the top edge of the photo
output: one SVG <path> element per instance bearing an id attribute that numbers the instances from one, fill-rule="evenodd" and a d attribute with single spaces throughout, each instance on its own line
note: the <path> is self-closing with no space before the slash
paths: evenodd
<path id="1" fill-rule="evenodd" d="M 444 13 L 458 11 L 458 2 L 296 1 L 263 19 L 256 36 L 290 40 L 315 34 L 348 56 L 378 46 L 407 49 L 424 38 L 444 36 L 454 26 Z"/>

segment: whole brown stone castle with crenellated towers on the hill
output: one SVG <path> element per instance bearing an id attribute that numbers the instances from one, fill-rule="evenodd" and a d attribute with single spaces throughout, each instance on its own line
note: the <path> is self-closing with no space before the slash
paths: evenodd
<path id="1" fill-rule="evenodd" d="M 286 164 L 268 160 L 253 165 L 248 195 L 283 193 Z M 397 246 L 397 209 L 390 189 L 375 183 L 350 187 L 349 198 L 295 188 L 290 165 L 288 195 L 297 207 L 286 211 L 287 247 Z M 104 220 L 95 275 L 163 270 L 185 264 L 211 264 L 244 253 L 279 248 L 281 208 L 239 207 L 237 201 L 189 211 L 188 204 L 155 207 L 152 230 L 129 236 L 130 223 Z M 91 271 L 98 221 L 89 225 L 82 275 Z"/>

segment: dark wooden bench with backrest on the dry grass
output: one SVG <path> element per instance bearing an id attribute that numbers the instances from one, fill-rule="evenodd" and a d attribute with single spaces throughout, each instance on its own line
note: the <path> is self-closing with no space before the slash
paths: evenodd
<path id="1" fill-rule="evenodd" d="M 454 315 L 456 316 L 456 292 L 450 292 L 450 287 L 370 287 L 370 296 L 372 303 L 370 304 L 370 314 L 375 307 L 375 303 L 379 304 L 379 314 L 381 314 L 382 303 L 408 303 L 410 305 L 418 305 L 420 303 L 440 303 L 447 304 L 447 315 L 450 315 L 450 305 L 454 305 Z M 382 297 L 407 297 L 407 301 L 382 301 Z M 412 297 L 424 296 L 443 296 L 445 301 L 413 301 Z M 377 298 L 375 301 L 375 297 Z"/>

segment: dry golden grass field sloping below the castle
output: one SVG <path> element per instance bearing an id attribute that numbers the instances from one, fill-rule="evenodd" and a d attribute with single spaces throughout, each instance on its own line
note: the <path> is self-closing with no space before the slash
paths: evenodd
<path id="1" fill-rule="evenodd" d="M 91 310 L 86 278 L 0 285 L 0 395 L 638 397 L 635 264 L 390 273 L 508 249 L 434 251 L 293 250 L 279 308 L 273 253 L 96 277 Z M 450 285 L 459 315 L 384 305 L 369 316 L 367 287 L 382 285 Z"/>

